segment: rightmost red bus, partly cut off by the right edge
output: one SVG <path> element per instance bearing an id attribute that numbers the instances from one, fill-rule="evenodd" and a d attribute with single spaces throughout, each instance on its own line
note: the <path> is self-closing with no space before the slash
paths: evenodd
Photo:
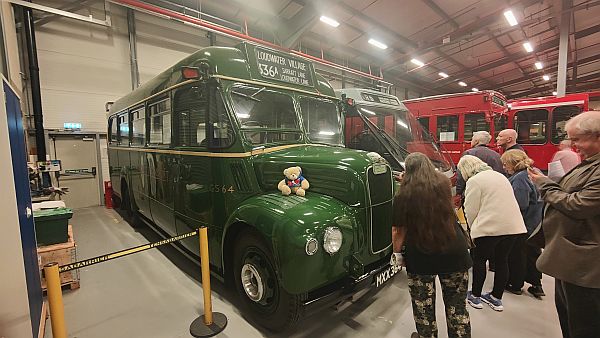
<path id="1" fill-rule="evenodd" d="M 598 98 L 600 93 L 580 93 L 511 100 L 508 127 L 517 131 L 517 143 L 534 160 L 535 166 L 548 170 L 548 162 L 558 150 L 558 144 L 567 136 L 567 120 L 590 110 L 590 100 Z"/>

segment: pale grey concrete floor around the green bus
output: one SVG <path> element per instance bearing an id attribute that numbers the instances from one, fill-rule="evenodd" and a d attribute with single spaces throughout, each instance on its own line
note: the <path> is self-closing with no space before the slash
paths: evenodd
<path id="1" fill-rule="evenodd" d="M 118 213 L 103 207 L 76 210 L 71 224 L 78 259 L 158 240 L 149 229 L 136 232 Z M 199 275 L 196 264 L 168 246 L 83 268 L 81 288 L 64 292 L 69 337 L 191 337 L 189 325 L 203 308 Z M 484 290 L 491 289 L 491 277 Z M 473 337 L 560 337 L 554 280 L 544 276 L 543 283 L 548 294 L 544 300 L 527 293 L 505 294 L 504 312 L 469 307 Z M 284 334 L 252 326 L 235 306 L 233 292 L 214 279 L 211 284 L 213 310 L 229 319 L 217 337 L 410 337 L 415 329 L 404 271 L 380 292 L 320 312 Z M 438 292 L 440 337 L 447 336 L 443 311 Z M 52 337 L 50 320 L 45 337 Z"/>

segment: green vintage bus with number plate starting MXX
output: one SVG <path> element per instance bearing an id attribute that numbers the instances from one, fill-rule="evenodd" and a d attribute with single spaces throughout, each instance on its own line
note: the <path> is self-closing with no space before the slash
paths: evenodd
<path id="1" fill-rule="evenodd" d="M 339 101 L 304 59 L 248 43 L 204 48 L 116 101 L 108 134 L 130 221 L 165 236 L 208 227 L 211 270 L 267 328 L 396 273 L 391 169 L 343 147 Z M 310 189 L 282 196 L 283 170 L 296 165 Z M 197 239 L 181 245 L 198 252 Z"/>

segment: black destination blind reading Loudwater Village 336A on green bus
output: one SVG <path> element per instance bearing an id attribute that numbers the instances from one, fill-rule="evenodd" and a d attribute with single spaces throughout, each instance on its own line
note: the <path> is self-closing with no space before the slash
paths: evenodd
<path id="1" fill-rule="evenodd" d="M 256 61 L 264 78 L 313 87 L 312 68 L 308 61 L 263 48 L 256 48 Z"/>

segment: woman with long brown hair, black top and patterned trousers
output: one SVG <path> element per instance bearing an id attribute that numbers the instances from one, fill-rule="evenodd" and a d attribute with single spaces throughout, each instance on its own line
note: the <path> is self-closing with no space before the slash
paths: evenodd
<path id="1" fill-rule="evenodd" d="M 450 180 L 421 153 L 408 155 L 405 169 L 394 200 L 392 262 L 406 266 L 418 334 L 437 337 L 437 276 L 442 285 L 448 336 L 470 337 L 465 298 L 472 261 L 456 221 Z"/>

